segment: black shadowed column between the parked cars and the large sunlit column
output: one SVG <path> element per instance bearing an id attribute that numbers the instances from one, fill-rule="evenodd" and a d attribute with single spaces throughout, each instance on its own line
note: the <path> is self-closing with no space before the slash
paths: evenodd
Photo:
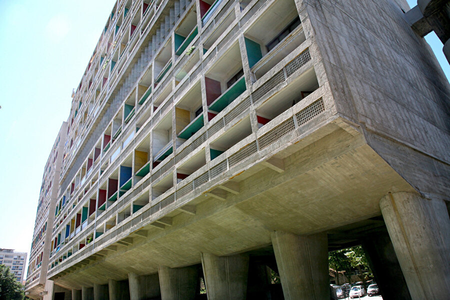
<path id="1" fill-rule="evenodd" d="M 362 248 L 383 300 L 410 300 L 411 295 L 387 230 L 365 235 L 362 238 Z"/>

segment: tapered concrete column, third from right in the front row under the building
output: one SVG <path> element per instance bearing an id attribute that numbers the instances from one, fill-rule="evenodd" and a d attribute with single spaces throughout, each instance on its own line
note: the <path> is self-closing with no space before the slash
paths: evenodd
<path id="1" fill-rule="evenodd" d="M 208 300 L 245 299 L 248 255 L 216 256 L 201 253 L 201 265 Z"/>

